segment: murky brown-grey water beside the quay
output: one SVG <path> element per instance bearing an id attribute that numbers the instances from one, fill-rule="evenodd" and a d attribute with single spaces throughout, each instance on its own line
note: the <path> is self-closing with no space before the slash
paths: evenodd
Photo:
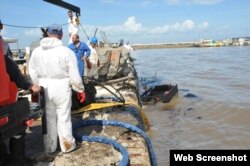
<path id="1" fill-rule="evenodd" d="M 170 103 L 144 106 L 160 166 L 169 165 L 170 149 L 250 149 L 250 47 L 137 50 L 132 57 L 139 77 L 156 72 L 179 87 Z"/>

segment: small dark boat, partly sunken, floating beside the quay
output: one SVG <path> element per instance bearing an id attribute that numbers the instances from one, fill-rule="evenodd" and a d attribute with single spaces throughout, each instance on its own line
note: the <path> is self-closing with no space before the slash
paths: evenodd
<path id="1" fill-rule="evenodd" d="M 163 103 L 168 103 L 177 93 L 178 93 L 177 84 L 155 85 L 142 93 L 141 100 L 143 102 L 162 101 Z"/>

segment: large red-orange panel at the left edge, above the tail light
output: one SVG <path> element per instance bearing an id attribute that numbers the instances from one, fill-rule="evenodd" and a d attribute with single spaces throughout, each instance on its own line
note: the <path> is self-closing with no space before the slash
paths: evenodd
<path id="1" fill-rule="evenodd" d="M 16 84 L 10 81 L 6 71 L 2 42 L 2 39 L 0 39 L 0 106 L 15 103 L 17 99 Z"/>

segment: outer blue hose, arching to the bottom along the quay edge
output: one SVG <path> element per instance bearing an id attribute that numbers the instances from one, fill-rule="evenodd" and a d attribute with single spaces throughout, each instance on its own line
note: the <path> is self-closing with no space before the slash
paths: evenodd
<path id="1" fill-rule="evenodd" d="M 77 124 L 73 125 L 73 130 L 80 128 L 80 127 L 92 126 L 92 125 L 101 125 L 101 126 L 110 125 L 110 126 L 123 127 L 123 128 L 129 129 L 130 131 L 138 133 L 146 141 L 148 151 L 149 151 L 151 166 L 157 166 L 157 160 L 156 160 L 155 152 L 153 150 L 153 146 L 147 134 L 143 130 L 131 124 L 120 122 L 120 121 L 115 121 L 115 120 L 80 120 Z"/>

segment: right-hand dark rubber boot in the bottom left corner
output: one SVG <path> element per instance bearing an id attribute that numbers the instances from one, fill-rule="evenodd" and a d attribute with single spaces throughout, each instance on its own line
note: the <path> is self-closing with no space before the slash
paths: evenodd
<path id="1" fill-rule="evenodd" d="M 33 166 L 34 161 L 25 156 L 25 134 L 10 139 L 11 166 Z"/>

